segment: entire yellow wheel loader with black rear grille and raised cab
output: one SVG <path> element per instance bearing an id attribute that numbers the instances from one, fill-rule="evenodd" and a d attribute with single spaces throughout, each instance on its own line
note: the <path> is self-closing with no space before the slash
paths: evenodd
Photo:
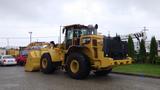
<path id="1" fill-rule="evenodd" d="M 25 70 L 50 74 L 64 68 L 71 78 L 84 79 L 91 71 L 103 76 L 110 73 L 113 66 L 131 64 L 126 42 L 118 36 L 98 35 L 97 29 L 97 24 L 64 26 L 63 43 L 52 42 L 47 48 L 31 51 Z"/>

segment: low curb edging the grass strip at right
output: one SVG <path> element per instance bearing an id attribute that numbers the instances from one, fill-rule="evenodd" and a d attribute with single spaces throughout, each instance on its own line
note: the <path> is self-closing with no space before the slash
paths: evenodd
<path id="1" fill-rule="evenodd" d="M 121 75 L 130 75 L 130 76 L 138 76 L 138 77 L 148 77 L 148 78 L 156 78 L 160 79 L 160 76 L 151 76 L 151 75 L 144 75 L 144 74 L 132 74 L 132 73 L 123 73 L 123 72 L 111 72 L 113 74 L 121 74 Z"/>

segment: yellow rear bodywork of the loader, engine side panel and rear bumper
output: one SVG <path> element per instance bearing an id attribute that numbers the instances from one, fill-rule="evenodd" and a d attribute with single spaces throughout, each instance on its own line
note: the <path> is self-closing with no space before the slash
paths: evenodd
<path id="1" fill-rule="evenodd" d="M 112 58 L 107 57 L 108 55 L 104 55 L 104 52 L 102 50 L 103 49 L 102 35 L 82 36 L 81 40 L 87 37 L 91 38 L 91 43 L 86 45 L 87 49 L 85 49 L 83 52 L 90 58 L 92 67 L 94 67 L 95 69 L 105 69 L 105 68 L 110 68 L 116 65 L 132 63 L 132 59 L 130 57 L 127 57 L 126 59 L 122 59 L 122 60 L 113 60 Z M 93 40 L 97 40 L 97 43 L 95 45 L 93 43 Z M 83 45 L 82 41 L 81 41 L 81 45 Z"/>

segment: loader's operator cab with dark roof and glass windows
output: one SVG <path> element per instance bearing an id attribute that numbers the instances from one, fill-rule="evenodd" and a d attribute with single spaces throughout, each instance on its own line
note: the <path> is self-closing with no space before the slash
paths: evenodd
<path id="1" fill-rule="evenodd" d="M 95 27 L 92 25 L 84 26 L 80 24 L 74 24 L 65 26 L 63 33 L 65 33 L 65 48 L 68 49 L 72 45 L 80 45 L 80 37 L 85 35 L 97 35 L 98 25 Z"/>

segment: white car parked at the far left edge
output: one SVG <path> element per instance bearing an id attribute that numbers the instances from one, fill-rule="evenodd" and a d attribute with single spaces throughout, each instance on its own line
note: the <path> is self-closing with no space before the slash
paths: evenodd
<path id="1" fill-rule="evenodd" d="M 0 55 L 0 65 L 16 65 L 17 61 L 12 55 Z"/>

